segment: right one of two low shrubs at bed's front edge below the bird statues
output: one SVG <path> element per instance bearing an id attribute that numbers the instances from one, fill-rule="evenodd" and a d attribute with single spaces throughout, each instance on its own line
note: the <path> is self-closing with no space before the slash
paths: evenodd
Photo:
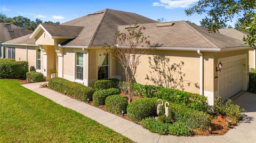
<path id="1" fill-rule="evenodd" d="M 192 136 L 193 130 L 185 122 L 175 122 L 168 128 L 169 133 L 174 136 Z"/>

